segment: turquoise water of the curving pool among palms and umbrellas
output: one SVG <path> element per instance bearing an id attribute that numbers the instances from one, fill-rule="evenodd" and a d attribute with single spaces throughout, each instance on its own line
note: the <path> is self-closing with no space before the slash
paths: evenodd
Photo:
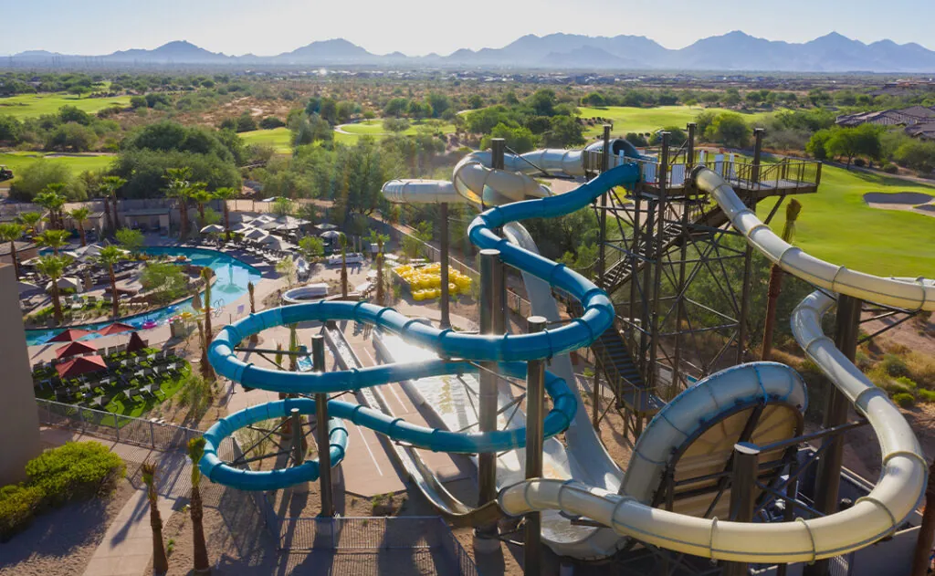
<path id="1" fill-rule="evenodd" d="M 237 258 L 216 252 L 213 250 L 204 250 L 201 248 L 181 248 L 175 246 L 151 246 L 143 249 L 148 254 L 168 255 L 168 256 L 187 256 L 192 264 L 196 266 L 209 266 L 217 275 L 217 281 L 211 287 L 211 306 L 221 308 L 247 294 L 248 282 L 256 283 L 260 280 L 261 272 L 255 267 L 237 260 Z M 189 298 L 177 304 L 166 306 L 159 310 L 151 310 L 136 316 L 129 316 L 121 319 L 121 322 L 131 324 L 137 329 L 149 329 L 159 324 L 165 324 L 168 319 L 184 311 L 192 311 L 192 299 Z M 97 322 L 94 324 L 80 324 L 85 330 L 97 330 L 111 324 L 111 320 Z M 145 324 L 145 328 L 144 328 Z M 52 338 L 62 328 L 50 330 L 26 330 L 26 344 L 35 346 L 43 344 L 49 338 Z M 83 340 L 100 338 L 96 334 L 89 335 Z"/>

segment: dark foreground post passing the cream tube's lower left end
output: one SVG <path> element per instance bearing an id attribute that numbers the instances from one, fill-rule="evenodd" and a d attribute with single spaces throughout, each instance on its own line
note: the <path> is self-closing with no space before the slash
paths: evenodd
<path id="1" fill-rule="evenodd" d="M 542 316 L 527 319 L 529 333 L 545 330 L 548 321 Z M 526 480 L 542 477 L 543 418 L 545 417 L 545 361 L 530 360 L 526 367 Z M 542 573 L 542 513 L 525 516 L 523 572 Z"/>

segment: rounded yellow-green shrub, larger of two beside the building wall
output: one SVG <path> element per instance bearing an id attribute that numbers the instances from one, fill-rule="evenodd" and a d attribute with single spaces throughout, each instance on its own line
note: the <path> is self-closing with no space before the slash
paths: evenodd
<path id="1" fill-rule="evenodd" d="M 124 472 L 120 456 L 97 442 L 67 442 L 26 464 L 27 484 L 42 490 L 45 502 L 52 506 L 93 497 L 111 487 Z"/>

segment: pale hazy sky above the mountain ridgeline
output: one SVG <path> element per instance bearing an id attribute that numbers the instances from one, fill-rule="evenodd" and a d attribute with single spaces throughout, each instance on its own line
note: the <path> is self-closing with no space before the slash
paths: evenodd
<path id="1" fill-rule="evenodd" d="M 639 35 L 682 48 L 731 30 L 792 42 L 836 31 L 868 43 L 889 38 L 935 50 L 933 0 L 3 0 L 3 5 L 0 54 L 38 49 L 106 54 L 188 40 L 227 54 L 270 55 L 335 37 L 375 53 L 448 54 L 554 32 Z"/>

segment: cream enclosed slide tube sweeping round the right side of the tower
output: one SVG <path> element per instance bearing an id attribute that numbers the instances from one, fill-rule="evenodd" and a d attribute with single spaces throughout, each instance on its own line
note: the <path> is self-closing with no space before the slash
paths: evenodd
<path id="1" fill-rule="evenodd" d="M 935 299 L 930 297 L 935 284 L 931 281 L 879 278 L 814 258 L 773 234 L 711 170 L 701 168 L 693 176 L 698 188 L 712 194 L 751 245 L 787 272 L 843 294 L 910 310 L 935 309 Z M 870 494 L 852 508 L 780 524 L 719 522 L 654 509 L 630 496 L 547 480 L 520 482 L 501 491 L 501 507 L 512 514 L 557 507 L 670 550 L 757 563 L 811 562 L 863 548 L 892 534 L 922 497 L 928 464 L 912 429 L 885 392 L 848 361 L 822 331 L 821 317 L 833 303 L 820 291 L 809 295 L 794 311 L 792 328 L 798 344 L 867 417 L 880 442 L 883 473 Z M 668 407 L 661 410 L 651 426 L 668 412 Z"/>

